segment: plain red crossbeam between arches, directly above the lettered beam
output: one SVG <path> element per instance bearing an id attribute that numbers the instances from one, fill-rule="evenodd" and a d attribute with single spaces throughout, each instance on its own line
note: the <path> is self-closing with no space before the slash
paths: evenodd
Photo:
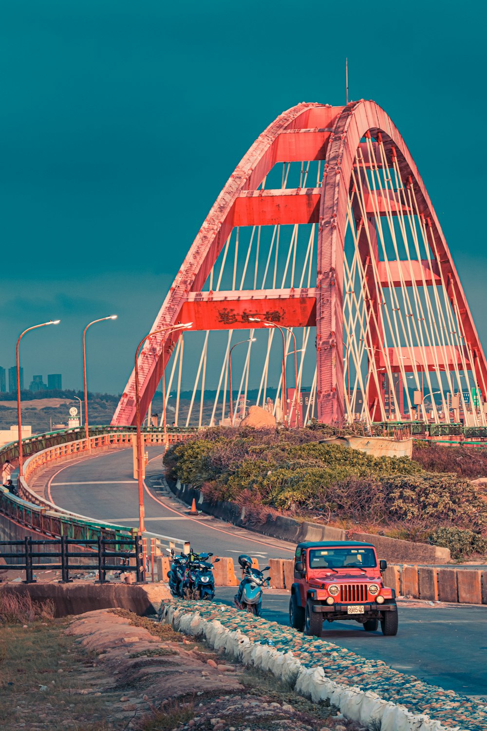
<path id="1" fill-rule="evenodd" d="M 249 190 L 235 201 L 234 226 L 309 224 L 318 221 L 320 189 Z"/>

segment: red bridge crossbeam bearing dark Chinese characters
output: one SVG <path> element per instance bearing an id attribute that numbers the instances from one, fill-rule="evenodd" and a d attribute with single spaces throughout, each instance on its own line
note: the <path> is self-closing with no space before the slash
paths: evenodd
<path id="1" fill-rule="evenodd" d="M 268 289 L 255 292 L 192 292 L 183 304 L 181 322 L 191 330 L 249 330 L 266 327 L 250 317 L 285 327 L 316 324 L 316 299 L 312 289 Z"/>

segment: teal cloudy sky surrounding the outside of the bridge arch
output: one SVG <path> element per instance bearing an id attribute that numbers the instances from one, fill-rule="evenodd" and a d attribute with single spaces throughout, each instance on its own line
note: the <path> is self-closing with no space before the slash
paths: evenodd
<path id="1" fill-rule="evenodd" d="M 0 366 L 118 393 L 239 159 L 298 102 L 399 126 L 487 341 L 485 10 L 478 2 L 3 0 Z"/>

